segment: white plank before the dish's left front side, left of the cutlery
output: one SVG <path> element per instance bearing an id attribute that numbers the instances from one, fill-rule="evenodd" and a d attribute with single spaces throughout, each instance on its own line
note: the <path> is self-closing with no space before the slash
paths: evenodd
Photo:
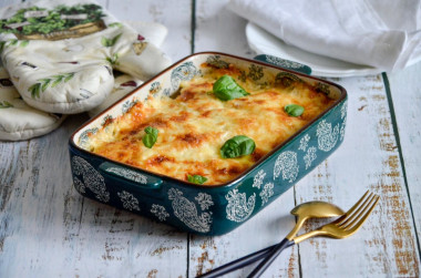
<path id="1" fill-rule="evenodd" d="M 186 272 L 184 233 L 89 199 L 83 203 L 78 237 L 69 244 L 76 257 L 69 275 L 183 277 Z"/>

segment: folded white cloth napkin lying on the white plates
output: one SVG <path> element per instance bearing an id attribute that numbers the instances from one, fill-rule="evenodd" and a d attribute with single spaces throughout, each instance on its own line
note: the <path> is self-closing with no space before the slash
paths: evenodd
<path id="1" fill-rule="evenodd" d="M 421 59 L 420 0 L 230 0 L 228 8 L 308 52 L 384 71 Z"/>

